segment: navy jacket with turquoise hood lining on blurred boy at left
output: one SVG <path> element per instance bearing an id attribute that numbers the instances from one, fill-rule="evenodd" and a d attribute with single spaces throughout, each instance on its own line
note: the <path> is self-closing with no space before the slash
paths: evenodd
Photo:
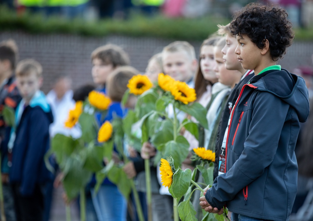
<path id="1" fill-rule="evenodd" d="M 17 128 L 12 149 L 10 182 L 20 185 L 23 196 L 33 194 L 35 184 L 43 184 L 52 178 L 45 166 L 44 155 L 50 146 L 49 125 L 53 122 L 51 109 L 43 92 L 37 92 L 21 116 L 16 110 Z M 20 117 L 20 119 L 19 119 Z"/>

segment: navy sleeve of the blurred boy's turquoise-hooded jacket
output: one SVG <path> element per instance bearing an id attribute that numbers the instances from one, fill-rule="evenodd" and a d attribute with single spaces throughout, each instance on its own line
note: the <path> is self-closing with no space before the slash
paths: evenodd
<path id="1" fill-rule="evenodd" d="M 33 109 L 29 124 L 28 149 L 20 186 L 20 192 L 24 196 L 33 193 L 43 167 L 44 154 L 49 147 L 49 120 L 44 111 Z"/>

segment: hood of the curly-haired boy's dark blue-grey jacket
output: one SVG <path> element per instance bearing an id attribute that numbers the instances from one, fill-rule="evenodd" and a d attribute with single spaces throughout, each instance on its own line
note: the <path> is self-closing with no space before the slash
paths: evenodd
<path id="1" fill-rule="evenodd" d="M 309 92 L 305 80 L 289 73 L 285 69 L 269 70 L 250 80 L 256 90 L 274 94 L 291 105 L 297 112 L 300 122 L 305 122 L 309 116 Z"/>

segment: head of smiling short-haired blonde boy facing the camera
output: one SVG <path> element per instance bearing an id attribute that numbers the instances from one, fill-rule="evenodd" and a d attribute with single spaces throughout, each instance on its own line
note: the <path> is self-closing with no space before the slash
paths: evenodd
<path id="1" fill-rule="evenodd" d="M 194 86 L 198 61 L 194 47 L 186 41 L 174 41 L 162 51 L 164 74 Z"/>

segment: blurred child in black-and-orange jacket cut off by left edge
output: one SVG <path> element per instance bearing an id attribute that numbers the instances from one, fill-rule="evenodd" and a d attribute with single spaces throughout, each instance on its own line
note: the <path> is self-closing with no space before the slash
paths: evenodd
<path id="1" fill-rule="evenodd" d="M 18 48 L 13 40 L 0 43 L 0 145 L 1 145 L 1 182 L 3 185 L 4 212 L 8 221 L 14 221 L 14 201 L 11 186 L 9 185 L 8 140 L 11 127 L 3 120 L 2 109 L 6 105 L 13 109 L 21 100 L 16 81 L 13 76 L 18 60 Z"/>

